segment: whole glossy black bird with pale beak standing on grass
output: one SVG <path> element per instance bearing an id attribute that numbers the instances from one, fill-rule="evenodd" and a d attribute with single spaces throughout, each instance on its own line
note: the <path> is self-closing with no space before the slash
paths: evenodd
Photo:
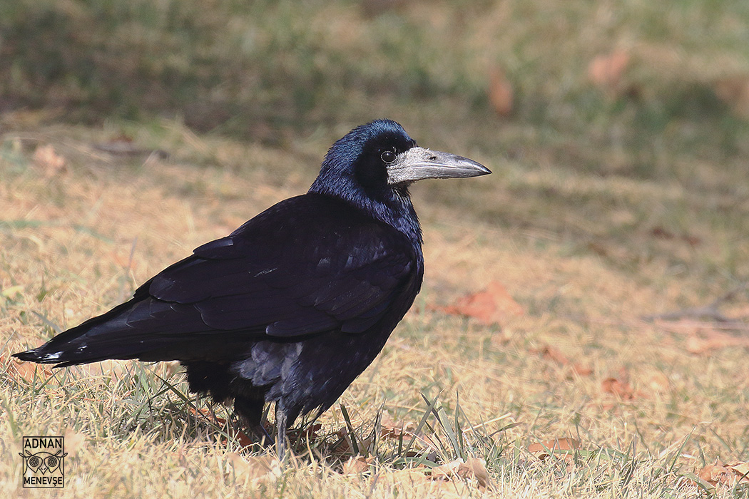
<path id="1" fill-rule="evenodd" d="M 408 187 L 491 173 L 417 147 L 392 120 L 330 148 L 305 195 L 283 200 L 151 278 L 133 299 L 14 356 L 57 367 L 180 361 L 189 389 L 257 430 L 276 402 L 279 453 L 299 414 L 322 414 L 413 304 L 424 259 Z"/>

